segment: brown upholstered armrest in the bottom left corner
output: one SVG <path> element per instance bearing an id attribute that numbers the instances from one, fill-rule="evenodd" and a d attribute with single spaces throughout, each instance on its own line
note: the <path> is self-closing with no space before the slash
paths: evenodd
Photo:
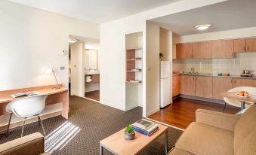
<path id="1" fill-rule="evenodd" d="M 44 153 L 45 138 L 39 133 L 26 135 L 0 145 L 0 155 L 39 155 Z"/>

